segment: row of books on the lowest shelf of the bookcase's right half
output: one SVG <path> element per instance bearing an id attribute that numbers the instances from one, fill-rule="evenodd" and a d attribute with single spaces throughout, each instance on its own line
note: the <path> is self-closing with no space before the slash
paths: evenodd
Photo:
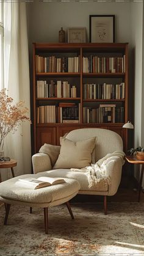
<path id="1" fill-rule="evenodd" d="M 124 107 L 115 104 L 100 104 L 99 108 L 83 108 L 84 123 L 123 123 Z"/>

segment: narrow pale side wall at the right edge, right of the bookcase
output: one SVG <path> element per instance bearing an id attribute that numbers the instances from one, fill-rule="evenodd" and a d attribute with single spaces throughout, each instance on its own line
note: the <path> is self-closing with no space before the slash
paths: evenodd
<path id="1" fill-rule="evenodd" d="M 143 6 L 142 4 L 133 3 L 131 5 L 131 43 L 132 43 L 132 79 L 131 84 L 134 84 L 134 147 L 143 145 L 143 114 L 142 114 L 142 53 L 143 53 Z M 130 74 L 131 75 L 131 74 Z M 131 86 L 131 85 L 130 85 Z M 135 167 L 135 177 L 139 180 L 140 167 Z M 143 182 L 144 185 L 144 182 Z"/>

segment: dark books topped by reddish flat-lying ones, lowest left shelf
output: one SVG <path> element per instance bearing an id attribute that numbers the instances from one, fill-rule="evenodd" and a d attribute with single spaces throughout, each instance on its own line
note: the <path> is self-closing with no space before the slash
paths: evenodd
<path id="1" fill-rule="evenodd" d="M 59 123 L 79 123 L 80 103 L 59 103 Z"/>

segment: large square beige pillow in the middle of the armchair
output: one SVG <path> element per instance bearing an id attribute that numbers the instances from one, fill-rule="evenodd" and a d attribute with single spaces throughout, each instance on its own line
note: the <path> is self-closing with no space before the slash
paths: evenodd
<path id="1" fill-rule="evenodd" d="M 77 142 L 70 141 L 63 137 L 60 138 L 60 155 L 53 169 L 90 166 L 95 144 L 96 137 Z"/>

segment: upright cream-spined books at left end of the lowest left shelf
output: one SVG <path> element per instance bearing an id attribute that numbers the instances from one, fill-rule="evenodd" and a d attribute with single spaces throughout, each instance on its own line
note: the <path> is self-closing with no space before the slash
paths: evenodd
<path id="1" fill-rule="evenodd" d="M 37 123 L 56 123 L 56 106 L 37 107 Z"/>

